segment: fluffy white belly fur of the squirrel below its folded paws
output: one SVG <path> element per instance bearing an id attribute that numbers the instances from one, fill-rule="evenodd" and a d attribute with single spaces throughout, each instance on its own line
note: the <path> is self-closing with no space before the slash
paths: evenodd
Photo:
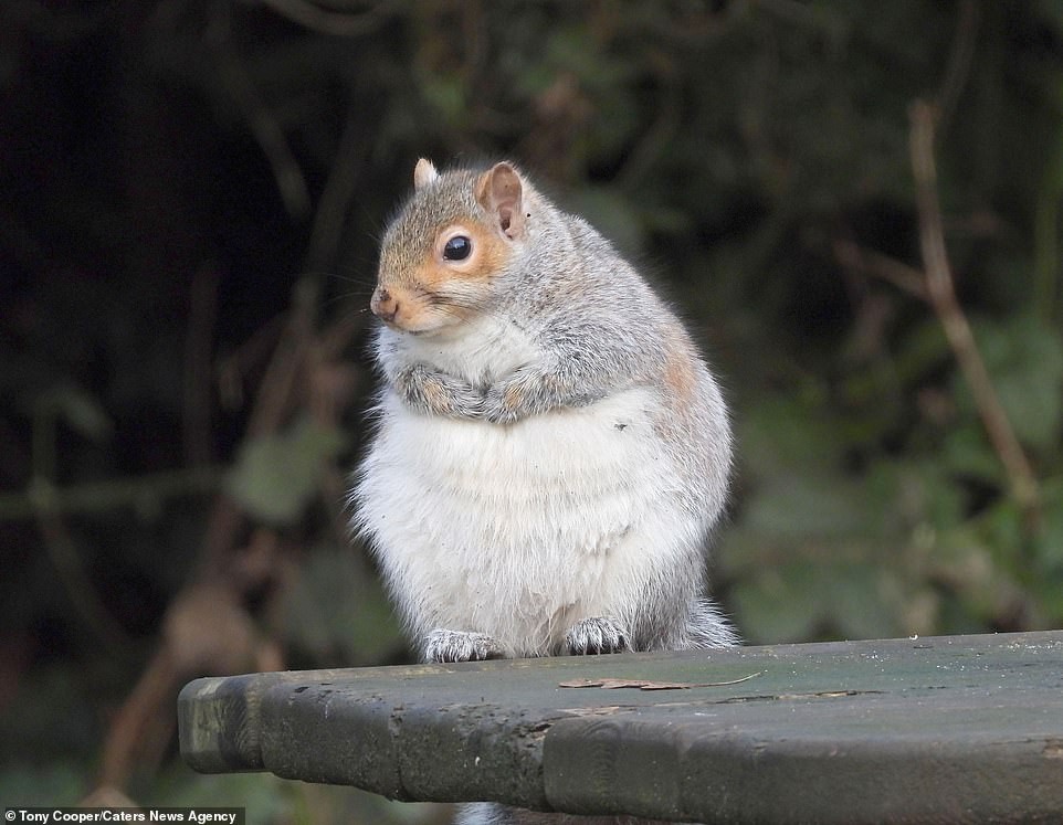
<path id="1" fill-rule="evenodd" d="M 698 539 L 656 406 L 632 390 L 498 426 L 386 399 L 358 520 L 414 632 L 480 631 L 512 654 L 547 653 L 575 621 L 636 600 L 670 550 Z"/>

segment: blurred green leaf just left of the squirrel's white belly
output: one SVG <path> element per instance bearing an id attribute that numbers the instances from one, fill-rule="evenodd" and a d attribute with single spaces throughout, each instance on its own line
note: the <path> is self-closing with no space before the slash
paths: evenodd
<path id="1" fill-rule="evenodd" d="M 292 523 L 316 495 L 323 470 L 345 443 L 339 430 L 302 419 L 287 432 L 245 443 L 227 488 L 263 521 Z"/>

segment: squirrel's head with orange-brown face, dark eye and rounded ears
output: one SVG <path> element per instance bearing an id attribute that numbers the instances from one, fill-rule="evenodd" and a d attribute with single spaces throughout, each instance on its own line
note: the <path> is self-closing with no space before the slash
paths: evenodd
<path id="1" fill-rule="evenodd" d="M 369 304 L 388 326 L 430 335 L 482 311 L 524 241 L 528 192 L 509 163 L 440 173 L 422 158 L 385 233 Z"/>

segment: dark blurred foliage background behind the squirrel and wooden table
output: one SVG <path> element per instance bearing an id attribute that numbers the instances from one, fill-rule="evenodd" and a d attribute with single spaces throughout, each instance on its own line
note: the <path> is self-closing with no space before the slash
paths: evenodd
<path id="1" fill-rule="evenodd" d="M 1060 2 L 3 0 L 0 802 L 445 816 L 173 739 L 196 676 L 409 658 L 345 479 L 422 155 L 690 320 L 749 642 L 1063 626 Z"/>

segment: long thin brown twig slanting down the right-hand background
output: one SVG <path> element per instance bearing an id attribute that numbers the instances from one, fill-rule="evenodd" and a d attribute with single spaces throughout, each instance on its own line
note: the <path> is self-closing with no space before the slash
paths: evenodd
<path id="1" fill-rule="evenodd" d="M 941 322 L 960 371 L 975 396 L 982 425 L 1008 474 L 1011 493 L 1028 518 L 1035 522 L 1039 517 L 1036 478 L 1000 403 L 989 371 L 978 351 L 970 324 L 956 297 L 937 197 L 937 169 L 934 162 L 935 114 L 933 106 L 917 101 L 911 110 L 909 134 L 927 299 Z"/>

